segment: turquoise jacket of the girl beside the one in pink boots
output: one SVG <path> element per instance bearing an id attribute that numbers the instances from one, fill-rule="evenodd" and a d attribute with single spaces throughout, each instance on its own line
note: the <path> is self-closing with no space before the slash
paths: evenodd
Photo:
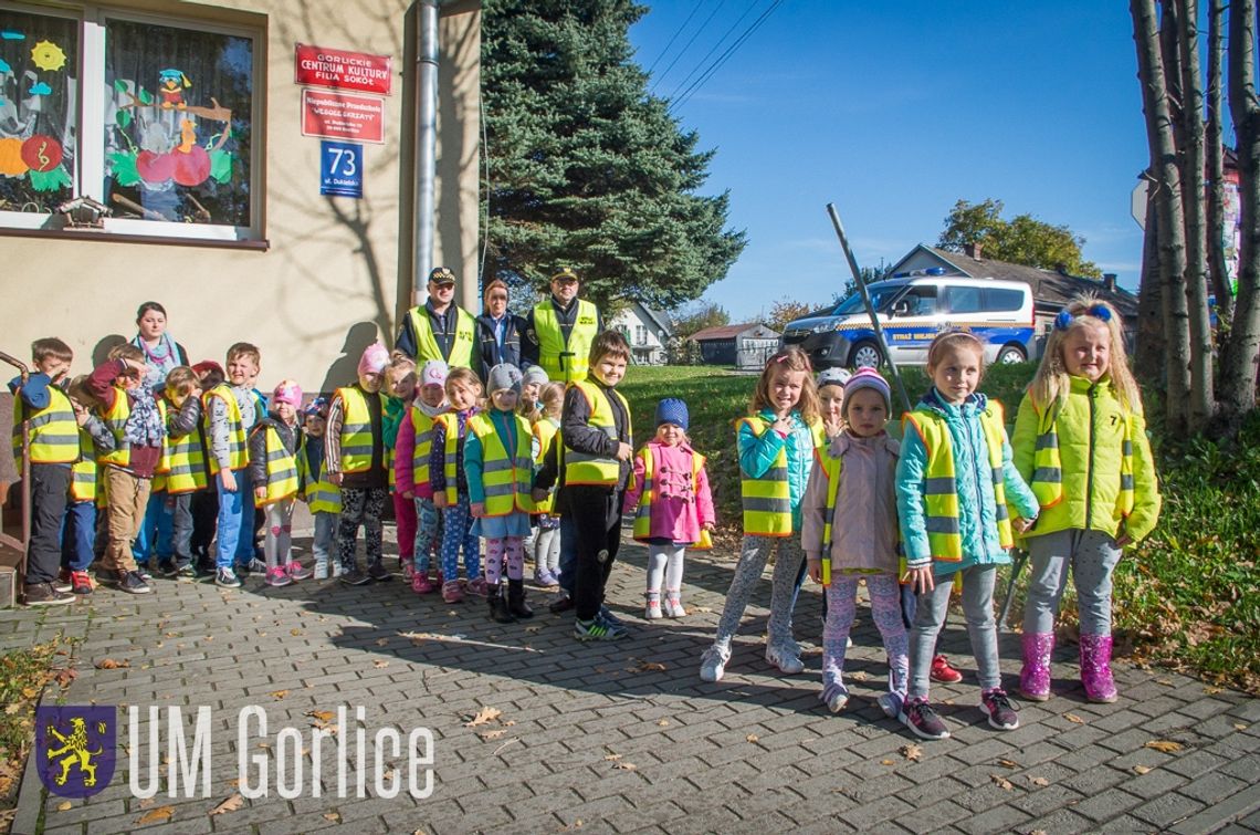
<path id="1" fill-rule="evenodd" d="M 954 473 L 959 503 L 959 534 L 963 540 L 963 560 L 959 563 L 932 561 L 927 544 L 925 510 L 925 479 L 927 477 L 927 449 L 914 430 L 906 431 L 901 441 L 897 462 L 897 515 L 901 521 L 901 541 L 906 551 L 906 565 L 921 568 L 932 565 L 936 575 L 951 574 L 973 565 L 995 565 L 1011 561 L 1011 556 L 998 540 L 997 503 L 993 496 L 988 445 L 980 426 L 980 412 L 988 406 L 982 394 L 970 395 L 961 406 L 945 402 L 935 388 L 919 402 L 945 421 L 954 453 Z M 1005 433 L 1003 431 L 1003 435 Z M 1002 483 L 1007 506 L 1012 516 L 1031 520 L 1037 517 L 1037 498 L 1019 476 L 1012 462 L 1011 443 L 1002 440 Z"/>

